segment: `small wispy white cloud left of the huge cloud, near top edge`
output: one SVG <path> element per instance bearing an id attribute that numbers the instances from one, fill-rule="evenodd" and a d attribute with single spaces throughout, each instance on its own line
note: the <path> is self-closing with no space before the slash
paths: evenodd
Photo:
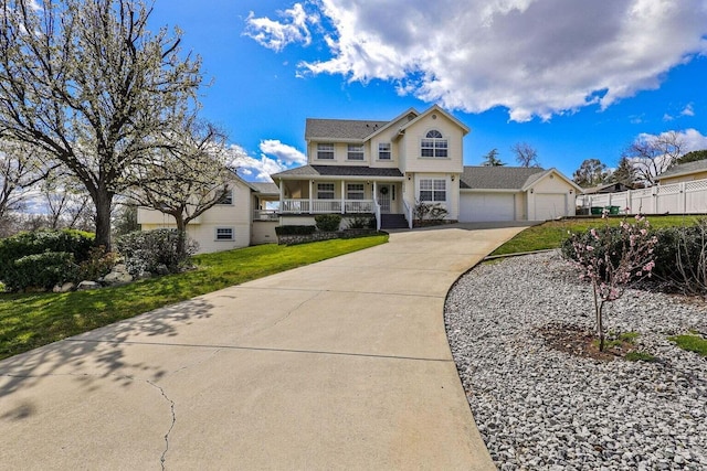
<path id="1" fill-rule="evenodd" d="M 245 20 L 246 28 L 243 34 L 276 52 L 292 43 L 307 45 L 312 42 L 307 23 L 316 23 L 318 20 L 316 14 L 307 14 L 302 3 L 295 3 L 293 8 L 279 11 L 278 15 L 283 18 L 283 21 L 255 18 L 255 13 L 251 11 Z"/>

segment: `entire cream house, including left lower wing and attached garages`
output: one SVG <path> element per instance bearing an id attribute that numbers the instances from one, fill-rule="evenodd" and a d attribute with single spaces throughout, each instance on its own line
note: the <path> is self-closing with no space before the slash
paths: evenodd
<path id="1" fill-rule="evenodd" d="M 412 227 L 420 203 L 443 207 L 450 222 L 574 215 L 581 189 L 556 169 L 464 167 L 468 132 L 436 105 L 390 121 L 307 119 L 307 164 L 271 175 L 274 183 L 235 176 L 230 201 L 193 221 L 189 235 L 201 251 L 218 251 L 276 242 L 276 225 L 313 225 L 317 214 L 340 214 L 344 227 L 371 217 L 383 229 Z M 169 220 L 138 211 L 143 229 L 173 227 Z"/>

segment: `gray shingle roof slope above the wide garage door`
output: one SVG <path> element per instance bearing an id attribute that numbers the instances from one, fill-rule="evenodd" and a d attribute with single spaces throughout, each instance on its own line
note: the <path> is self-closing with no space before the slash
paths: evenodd
<path id="1" fill-rule="evenodd" d="M 464 167 L 460 189 L 520 190 L 545 172 L 532 167 Z"/>

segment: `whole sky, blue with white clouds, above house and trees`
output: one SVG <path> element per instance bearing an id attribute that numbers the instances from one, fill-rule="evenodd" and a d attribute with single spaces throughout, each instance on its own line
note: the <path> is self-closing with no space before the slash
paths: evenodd
<path id="1" fill-rule="evenodd" d="M 434 103 L 472 128 L 464 163 L 527 142 L 567 175 L 676 131 L 707 148 L 705 0 L 156 0 L 211 85 L 247 180 L 303 163 L 307 117 L 392 119 Z"/>

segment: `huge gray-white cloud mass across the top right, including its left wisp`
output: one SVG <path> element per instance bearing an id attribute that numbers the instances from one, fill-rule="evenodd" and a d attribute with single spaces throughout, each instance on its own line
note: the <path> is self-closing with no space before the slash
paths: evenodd
<path id="1" fill-rule="evenodd" d="M 707 53 L 703 0 L 316 0 L 287 11 L 303 13 L 251 15 L 247 31 L 278 50 L 310 43 L 303 18 L 326 19 L 331 57 L 299 64 L 299 75 L 391 81 L 399 94 L 447 108 L 504 106 L 516 121 L 605 108 Z M 271 39 L 288 28 L 299 38 Z"/>

